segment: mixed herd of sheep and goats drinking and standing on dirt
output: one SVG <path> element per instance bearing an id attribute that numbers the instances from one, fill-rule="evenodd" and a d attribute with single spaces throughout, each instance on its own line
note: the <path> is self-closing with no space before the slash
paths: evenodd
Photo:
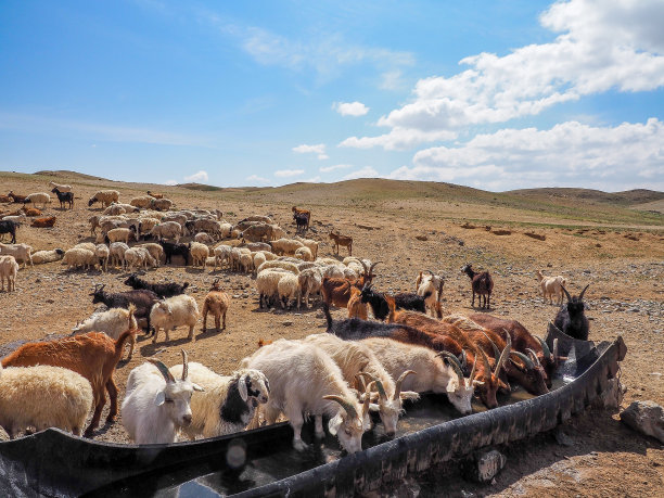
<path id="1" fill-rule="evenodd" d="M 68 186 L 53 190 L 62 192 L 63 187 Z M 158 194 L 149 193 L 151 200 L 138 207 L 136 200 L 119 204 L 113 192 L 117 193 L 98 192 L 89 201 L 105 206 L 104 214 L 90 218 L 97 243 L 33 253 L 26 244 L 15 244 L 15 230 L 10 231 L 12 243 L 0 244 L 2 288 L 11 276 L 13 289 L 18 261 L 25 267 L 63 259 L 69 267 L 99 266 L 106 271 L 108 265 L 133 270 L 179 257 L 183 264 L 213 265 L 213 271 L 220 267 L 253 273 L 259 307 L 302 303 L 308 307 L 311 298 L 320 296 L 327 332 L 267 344 L 261 340 L 229 375 L 189 362 L 184 350 L 182 363 L 170 368 L 148 358 L 129 373 L 118 407 L 113 374 L 126 346 L 131 358 L 137 334 L 142 331 L 156 343 L 163 329 L 168 342 L 170 331 L 188 327 L 188 337 L 194 341 L 200 319 L 196 299 L 187 294 L 188 282 L 157 283 L 130 273 L 124 283 L 131 290 L 108 292 L 105 285 L 95 285 L 92 303 L 104 308 L 78 323 L 72 335 L 24 344 L 2 359 L 0 425 L 10 437 L 49 426 L 92 437 L 107 394 L 106 423 L 122 410 L 123 425 L 137 444 L 173 443 L 178 435 L 195 439 L 230 434 L 274 423 L 283 416 L 294 431 L 293 446 L 302 449 L 306 445 L 301 430 L 305 418 L 312 417 L 317 437 L 324 435 L 324 418 L 329 433 L 347 452 L 355 452 L 373 425 L 371 412 L 378 413 L 384 432 L 394 435 L 404 401 L 416 400 L 421 393 L 445 394 L 461 414 L 472 412 L 473 397 L 487 409 L 496 408 L 497 394 L 510 393 L 512 385 L 533 395 L 547 393 L 556 369 L 566 359 L 559 355 L 557 341 L 547 344 L 515 320 L 486 312 L 444 315 L 444 278 L 430 270 L 419 272 L 413 292 L 380 292 L 373 280 L 381 261 L 353 257 L 348 237 L 330 233 L 337 252 L 340 245 L 348 248 L 349 256 L 340 261 L 319 257 L 317 241 L 285 239 L 285 231 L 265 216 L 232 226 L 219 212 L 174 210 L 170 201 L 167 210 L 154 210 L 153 201 L 164 200 Z M 125 216 L 133 208 L 139 209 L 137 217 Z M 293 207 L 298 232 L 306 232 L 310 217 Z M 145 235 L 153 242 L 139 244 Z M 181 237 L 193 240 L 181 243 Z M 131 247 L 129 239 L 136 242 Z M 217 243 L 222 239 L 241 243 Z M 489 272 L 476 272 L 471 265 L 461 271 L 471 281 L 471 305 L 477 294 L 480 306 L 489 308 L 494 289 Z M 538 272 L 538 279 L 542 297 L 557 297 L 561 304 L 554 324 L 570 336 L 587 340 L 583 297 L 588 286 L 571 296 L 563 277 Z M 203 301 L 203 331 L 209 314 L 216 329 L 226 329 L 231 299 L 219 282 L 214 280 Z M 333 319 L 331 307 L 346 309 L 348 318 Z M 90 410 L 93 414 L 84 432 Z"/>

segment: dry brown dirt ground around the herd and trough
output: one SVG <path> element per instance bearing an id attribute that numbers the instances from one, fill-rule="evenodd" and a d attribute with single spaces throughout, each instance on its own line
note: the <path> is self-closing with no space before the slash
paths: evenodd
<path id="1" fill-rule="evenodd" d="M 664 224 L 653 224 L 652 218 L 647 222 L 640 222 L 638 217 L 631 224 L 614 222 L 618 214 L 631 215 L 608 206 L 606 222 L 602 224 L 602 207 L 597 205 L 592 206 L 595 220 L 579 220 L 560 213 L 497 207 L 472 196 L 461 201 L 408 199 L 391 192 L 367 191 L 370 184 L 352 194 L 330 186 L 328 190 L 319 189 L 314 196 L 307 193 L 306 186 L 296 190 L 214 192 L 91 178 L 53 179 L 74 184 L 76 205 L 73 210 L 61 210 L 55 200 L 47 209 L 48 215 L 58 217 L 54 228 L 24 226 L 18 230 L 17 242 L 30 244 L 34 251 L 66 250 L 77 242 L 90 241 L 87 219 L 101 209 L 98 205 L 88 208 L 87 200 L 97 190 L 117 189 L 123 202 L 152 190 L 164 192 L 181 208 L 219 208 L 230 222 L 252 214 L 270 215 L 291 234 L 295 231 L 291 206 L 303 204 L 312 210 L 312 229 L 307 237 L 322 242 L 319 256 L 333 255 L 328 232 L 334 228 L 354 238 L 354 255 L 382 261 L 375 268 L 374 280 L 381 291 L 411 291 L 418 271 L 439 271 L 446 278 L 444 306 L 449 312 L 473 311 L 470 282 L 460 272 L 463 264 L 472 263 L 474 268 L 488 269 L 494 276 L 493 312 L 516 319 L 540 335 L 546 333 L 547 322 L 553 320 L 558 308 L 544 303 L 538 295 L 535 270 L 564 276 L 573 293 L 590 283 L 586 292 L 590 340 L 599 342 L 622 335 L 627 344 L 622 363 L 622 382 L 628 388 L 624 407 L 646 399 L 664 404 Z M 46 191 L 48 180 L 43 176 L 0 174 L 0 193 Z M 18 205 L 0 204 L 0 212 L 15 207 Z M 545 235 L 546 240 L 525 232 Z M 345 255 L 342 250 L 342 257 Z M 256 349 L 259 339 L 298 339 L 324 331 L 319 306 L 299 311 L 259 310 L 251 276 L 180 266 L 153 269 L 146 276 L 155 281 L 190 282 L 189 294 L 200 307 L 215 277 L 221 278 L 233 297 L 227 330 L 203 332 L 199 323 L 195 343 L 187 341 L 183 328 L 171 333 L 168 343 L 163 335 L 156 345 L 139 336 L 138 354 L 131 361 L 120 362 L 115 374 L 120 400 L 129 371 L 145 357 L 156 355 L 170 366 L 180 361 L 180 348 L 186 348 L 190 360 L 228 373 Z M 105 283 L 112 291 L 126 290 L 122 283 L 125 278 L 126 273 L 116 269 L 107 273 L 71 272 L 61 263 L 22 269 L 17 291 L 0 293 L 0 344 L 68 334 L 77 321 L 94 310 L 89 295 L 93 284 Z M 344 312 L 335 310 L 334 315 L 341 318 Z M 435 491 L 413 482 L 411 491 L 391 493 L 464 497 L 664 495 L 664 446 L 626 429 L 617 414 L 589 411 L 565 424 L 562 431 L 567 436 L 566 444 L 545 434 L 502 448 L 508 462 L 490 485 L 473 484 L 452 471 L 445 478 L 445 487 Z M 127 442 L 119 419 L 100 429 L 94 437 Z"/>

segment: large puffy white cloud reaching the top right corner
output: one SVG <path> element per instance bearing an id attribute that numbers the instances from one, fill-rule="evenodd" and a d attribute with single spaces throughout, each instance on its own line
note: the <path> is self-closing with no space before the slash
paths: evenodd
<path id="1" fill-rule="evenodd" d="M 558 37 L 499 56 L 481 53 L 460 61 L 450 77 L 417 82 L 411 102 L 382 116 L 392 128 L 381 137 L 352 137 L 346 146 L 399 149 L 403 130 L 421 141 L 434 131 L 506 123 L 582 97 L 664 86 L 664 10 L 660 0 L 571 0 L 553 3 L 540 24 Z M 401 130 L 395 133 L 396 130 Z M 393 135 L 394 133 L 394 135 Z M 423 135 L 432 133 L 432 135 Z"/>

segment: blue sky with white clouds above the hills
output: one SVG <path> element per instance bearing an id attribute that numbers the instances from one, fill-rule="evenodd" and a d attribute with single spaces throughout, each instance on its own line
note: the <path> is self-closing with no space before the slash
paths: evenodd
<path id="1" fill-rule="evenodd" d="M 664 3 L 0 3 L 0 170 L 664 190 Z"/>

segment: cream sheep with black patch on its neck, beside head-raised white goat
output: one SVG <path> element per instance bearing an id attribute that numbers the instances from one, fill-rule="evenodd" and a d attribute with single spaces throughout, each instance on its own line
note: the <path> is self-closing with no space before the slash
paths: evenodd
<path id="1" fill-rule="evenodd" d="M 174 376 L 182 374 L 182 367 L 170 367 Z M 194 440 L 243 431 L 254 418 L 256 407 L 269 398 L 269 382 L 258 370 L 238 370 L 219 375 L 201 363 L 189 363 L 189 379 L 203 387 L 191 397 L 191 425 L 182 432 Z"/>

